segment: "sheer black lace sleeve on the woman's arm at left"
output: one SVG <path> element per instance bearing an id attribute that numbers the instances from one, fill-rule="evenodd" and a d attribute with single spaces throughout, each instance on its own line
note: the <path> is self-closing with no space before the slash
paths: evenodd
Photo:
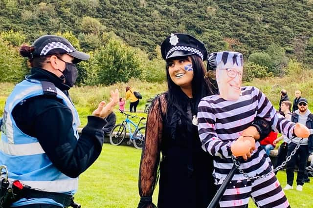
<path id="1" fill-rule="evenodd" d="M 148 114 L 145 144 L 142 148 L 139 167 L 139 207 L 151 208 L 152 194 L 158 178 L 160 162 L 161 139 L 163 130 L 163 112 L 166 109 L 165 95 L 155 99 Z"/>

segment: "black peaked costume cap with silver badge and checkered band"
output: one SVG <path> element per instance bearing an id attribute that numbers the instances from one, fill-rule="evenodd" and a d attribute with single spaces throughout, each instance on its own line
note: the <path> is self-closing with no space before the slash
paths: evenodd
<path id="1" fill-rule="evenodd" d="M 198 55 L 202 61 L 207 59 L 204 43 L 188 34 L 172 33 L 161 44 L 161 53 L 164 60 Z"/>

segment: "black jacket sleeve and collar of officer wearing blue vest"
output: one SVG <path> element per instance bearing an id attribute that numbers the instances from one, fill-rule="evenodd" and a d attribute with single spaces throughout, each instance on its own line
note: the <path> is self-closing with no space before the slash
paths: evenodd
<path id="1" fill-rule="evenodd" d="M 32 68 L 30 79 L 54 83 L 67 96 L 69 87 L 56 75 L 39 68 Z M 36 137 L 54 166 L 69 177 L 84 172 L 100 155 L 106 121 L 89 116 L 77 140 L 72 128 L 71 110 L 62 100 L 52 95 L 26 99 L 12 111 L 17 126 Z"/>

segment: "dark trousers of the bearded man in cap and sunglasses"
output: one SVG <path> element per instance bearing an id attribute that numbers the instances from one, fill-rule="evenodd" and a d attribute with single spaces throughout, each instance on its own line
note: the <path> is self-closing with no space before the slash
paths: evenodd
<path id="1" fill-rule="evenodd" d="M 290 144 L 288 144 L 288 153 L 287 155 L 291 155 L 292 150 L 296 147 L 297 145 L 293 142 L 291 142 Z M 294 173 L 293 173 L 293 169 L 294 169 L 294 165 L 297 162 L 297 157 L 299 157 L 299 162 L 298 162 L 298 175 L 297 175 L 297 185 L 303 185 L 303 179 L 304 179 L 304 174 L 305 174 L 305 167 L 307 164 L 307 160 L 308 160 L 308 156 L 309 156 L 309 149 L 308 149 L 308 145 L 300 145 L 299 149 L 297 149 L 296 153 L 291 157 L 291 160 L 287 163 L 287 169 L 286 169 L 286 173 L 287 173 L 287 184 L 289 184 L 290 186 L 292 186 L 293 184 L 293 178 L 294 178 Z"/>

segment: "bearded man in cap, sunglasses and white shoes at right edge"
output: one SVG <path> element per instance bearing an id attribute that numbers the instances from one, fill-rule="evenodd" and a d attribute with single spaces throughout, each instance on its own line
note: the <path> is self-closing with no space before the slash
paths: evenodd
<path id="1" fill-rule="evenodd" d="M 296 179 L 298 191 L 302 191 L 304 178 L 305 178 L 305 167 L 307 164 L 309 153 L 313 152 L 313 114 L 308 109 L 308 100 L 305 98 L 300 98 L 298 102 L 298 110 L 294 111 L 291 116 L 291 121 L 294 123 L 299 122 L 300 124 L 306 125 L 310 129 L 309 138 L 294 138 L 291 143 L 288 144 L 287 156 L 291 155 L 292 150 L 300 143 L 300 147 L 297 149 L 296 153 L 291 157 L 291 160 L 287 163 L 287 185 L 284 190 L 292 189 L 293 184 L 293 168 L 297 162 L 297 157 L 299 157 L 299 163 L 297 164 L 299 170 Z M 302 141 L 301 141 L 302 139 Z"/>

